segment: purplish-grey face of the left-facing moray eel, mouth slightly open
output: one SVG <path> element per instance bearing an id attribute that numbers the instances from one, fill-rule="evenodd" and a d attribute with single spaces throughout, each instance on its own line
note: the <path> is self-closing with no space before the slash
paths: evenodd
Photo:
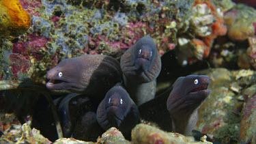
<path id="1" fill-rule="evenodd" d="M 79 83 L 79 70 L 78 66 L 73 64 L 72 58 L 61 61 L 57 66 L 51 68 L 46 74 L 46 77 L 50 80 L 46 83 L 48 89 L 67 89 L 74 91 L 82 91 Z"/>

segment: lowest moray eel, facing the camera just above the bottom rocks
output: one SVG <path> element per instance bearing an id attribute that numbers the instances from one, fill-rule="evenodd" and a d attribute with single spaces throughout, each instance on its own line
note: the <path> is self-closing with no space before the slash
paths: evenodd
<path id="1" fill-rule="evenodd" d="M 96 115 L 98 123 L 104 130 L 111 127 L 118 128 L 126 139 L 130 139 L 132 128 L 140 121 L 137 105 L 121 83 L 117 83 L 106 93 Z"/>

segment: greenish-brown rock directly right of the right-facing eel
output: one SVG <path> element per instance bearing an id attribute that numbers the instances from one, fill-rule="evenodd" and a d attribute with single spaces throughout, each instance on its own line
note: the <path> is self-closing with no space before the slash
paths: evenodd
<path id="1" fill-rule="evenodd" d="M 254 93 L 255 72 L 237 70 L 229 72 L 225 68 L 203 70 L 196 74 L 210 76 L 212 93 L 198 110 L 199 119 L 196 130 L 207 134 L 210 139 L 221 143 L 238 143 L 240 133 L 240 115 L 244 106 L 244 97 Z"/>

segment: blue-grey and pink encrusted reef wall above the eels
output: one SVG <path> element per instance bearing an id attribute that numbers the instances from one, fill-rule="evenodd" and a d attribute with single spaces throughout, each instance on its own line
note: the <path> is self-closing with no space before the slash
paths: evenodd
<path id="1" fill-rule="evenodd" d="M 160 55 L 175 50 L 186 65 L 208 57 L 214 39 L 227 31 L 223 11 L 212 1 L 21 0 L 18 5 L 30 14 L 31 25 L 18 37 L 1 34 L 2 80 L 32 77 L 44 83 L 46 70 L 62 59 L 85 54 L 119 59 L 147 34 Z M 24 33 L 11 27 L 5 33 Z"/>

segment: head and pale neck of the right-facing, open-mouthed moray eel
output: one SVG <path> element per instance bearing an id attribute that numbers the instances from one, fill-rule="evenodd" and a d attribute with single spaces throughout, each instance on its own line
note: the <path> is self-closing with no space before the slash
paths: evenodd
<path id="1" fill-rule="evenodd" d="M 173 131 L 190 134 L 197 124 L 197 109 L 211 93 L 209 84 L 210 78 L 204 75 L 177 78 L 167 100 Z"/>

